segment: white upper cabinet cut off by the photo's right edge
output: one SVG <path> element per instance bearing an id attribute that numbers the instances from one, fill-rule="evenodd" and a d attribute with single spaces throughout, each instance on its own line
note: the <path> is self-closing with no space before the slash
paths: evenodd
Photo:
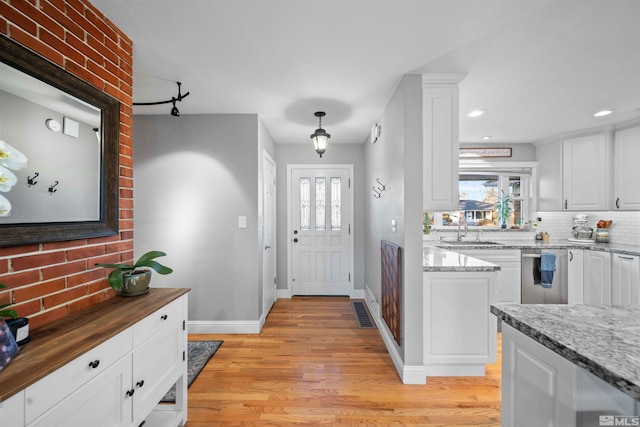
<path id="1" fill-rule="evenodd" d="M 640 210 L 640 126 L 617 131 L 613 150 L 613 208 Z"/>

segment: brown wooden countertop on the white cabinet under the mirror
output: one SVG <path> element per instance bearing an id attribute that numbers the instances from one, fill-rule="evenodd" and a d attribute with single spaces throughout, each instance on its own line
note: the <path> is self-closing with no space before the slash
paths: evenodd
<path id="1" fill-rule="evenodd" d="M 115 296 L 30 333 L 31 340 L 0 372 L 0 402 L 102 344 L 189 288 L 151 288 L 148 294 Z"/>

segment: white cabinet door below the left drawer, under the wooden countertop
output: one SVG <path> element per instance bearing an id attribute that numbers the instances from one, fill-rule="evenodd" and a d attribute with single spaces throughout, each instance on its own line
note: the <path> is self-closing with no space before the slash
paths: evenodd
<path id="1" fill-rule="evenodd" d="M 131 425 L 131 357 L 125 356 L 54 406 L 29 427 Z M 55 390 L 51 391 L 55 393 Z"/>

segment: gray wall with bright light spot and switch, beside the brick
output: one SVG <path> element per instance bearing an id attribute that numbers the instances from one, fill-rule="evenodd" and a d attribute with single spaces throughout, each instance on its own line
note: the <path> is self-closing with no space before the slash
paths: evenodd
<path id="1" fill-rule="evenodd" d="M 134 116 L 133 129 L 134 251 L 165 251 L 174 268 L 153 285 L 190 287 L 190 320 L 258 320 L 259 171 L 275 151 L 258 116 Z"/>

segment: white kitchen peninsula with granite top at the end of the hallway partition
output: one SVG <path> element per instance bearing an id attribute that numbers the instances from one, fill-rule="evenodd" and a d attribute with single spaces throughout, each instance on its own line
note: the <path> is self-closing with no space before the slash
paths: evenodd
<path id="1" fill-rule="evenodd" d="M 423 364 L 426 376 L 483 376 L 496 360 L 500 267 L 456 252 L 423 249 Z"/>

